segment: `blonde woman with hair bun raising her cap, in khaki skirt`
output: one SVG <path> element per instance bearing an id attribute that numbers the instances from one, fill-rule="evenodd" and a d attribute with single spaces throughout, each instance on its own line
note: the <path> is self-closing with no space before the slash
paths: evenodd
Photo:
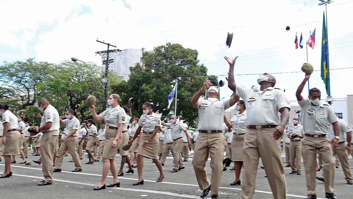
<path id="1" fill-rule="evenodd" d="M 118 179 L 118 169 L 115 163 L 116 151 L 120 147 L 122 142 L 122 127 L 125 123 L 125 111 L 120 107 L 121 102 L 120 96 L 118 94 L 112 94 L 109 96 L 107 101 L 108 106 L 103 113 L 97 115 L 95 111 L 95 106 L 91 106 L 90 110 L 92 112 L 93 119 L 96 121 L 102 121 L 106 125 L 106 136 L 104 138 L 104 150 L 103 150 L 103 172 L 101 181 L 97 184 L 94 190 L 105 189 L 106 187 L 120 187 L 120 182 Z M 106 178 L 108 171 L 113 175 L 113 182 L 106 186 Z"/>

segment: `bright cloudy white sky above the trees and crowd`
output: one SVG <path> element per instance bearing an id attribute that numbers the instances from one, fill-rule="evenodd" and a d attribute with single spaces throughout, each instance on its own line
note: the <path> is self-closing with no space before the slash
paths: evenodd
<path id="1" fill-rule="evenodd" d="M 208 68 L 208 75 L 219 75 L 222 80 L 229 69 L 223 56 L 239 56 L 235 82 L 246 87 L 259 88 L 256 81 L 259 73 L 280 73 L 273 74 L 276 87 L 286 89 L 288 100 L 294 100 L 304 78 L 300 68 L 306 62 L 305 45 L 295 50 L 295 32 L 298 42 L 303 32 L 305 44 L 309 31 L 316 28 L 315 48 L 308 48 L 308 57 L 314 70 L 320 70 L 325 6 L 318 3 L 318 0 L 1 0 L 0 62 L 36 57 L 57 63 L 77 57 L 100 65 L 101 57 L 95 52 L 106 50 L 106 46 L 96 39 L 115 44 L 119 49 L 152 50 L 172 42 L 196 49 L 200 63 Z M 353 25 L 349 14 L 352 10 L 351 0 L 335 0 L 328 5 L 330 68 L 337 69 L 330 72 L 334 98 L 353 94 Z M 287 26 L 291 27 L 289 31 Z M 229 49 L 225 45 L 227 32 L 234 32 Z M 326 98 L 320 71 L 312 74 L 310 87 L 319 88 Z M 221 88 L 221 97 L 229 97 L 231 93 L 226 85 Z M 307 96 L 307 89 L 303 96 Z"/>

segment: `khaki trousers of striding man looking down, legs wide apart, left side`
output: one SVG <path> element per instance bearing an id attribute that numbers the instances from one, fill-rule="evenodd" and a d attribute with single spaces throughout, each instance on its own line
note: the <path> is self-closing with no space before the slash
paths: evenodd
<path id="1" fill-rule="evenodd" d="M 78 154 L 77 154 L 77 148 L 78 148 L 77 136 L 71 136 L 69 138 L 66 138 L 65 142 L 61 143 L 58 157 L 56 158 L 56 162 L 55 162 L 55 169 L 61 169 L 62 160 L 64 159 L 64 155 L 67 152 L 67 149 L 70 150 L 70 154 L 71 154 L 72 160 L 75 163 L 76 169 L 82 169 L 80 158 L 78 157 Z"/>

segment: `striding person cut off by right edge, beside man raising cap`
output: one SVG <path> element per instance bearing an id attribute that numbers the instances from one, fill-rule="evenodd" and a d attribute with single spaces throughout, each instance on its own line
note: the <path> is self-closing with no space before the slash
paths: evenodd
<path id="1" fill-rule="evenodd" d="M 339 138 L 338 146 L 336 149 L 334 149 L 334 152 L 341 161 L 342 170 L 343 170 L 343 173 L 345 174 L 345 179 L 347 181 L 347 184 L 353 184 L 351 167 L 349 166 L 348 157 L 347 157 L 347 150 L 350 149 L 350 146 L 346 144 L 346 135 L 347 135 L 347 142 L 351 143 L 352 130 L 351 130 L 351 127 L 349 127 L 345 122 L 345 120 L 343 119 L 338 119 L 338 124 L 340 127 L 340 134 L 339 134 L 340 138 Z M 329 132 L 329 135 L 330 134 L 331 133 Z M 334 137 L 334 135 L 331 135 L 331 136 Z M 324 182 L 324 175 L 322 175 L 322 177 L 316 177 L 316 179 Z"/>

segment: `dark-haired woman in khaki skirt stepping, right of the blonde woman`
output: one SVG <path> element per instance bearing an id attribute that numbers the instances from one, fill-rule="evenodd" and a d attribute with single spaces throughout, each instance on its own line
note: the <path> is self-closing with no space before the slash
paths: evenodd
<path id="1" fill-rule="evenodd" d="M 161 120 L 159 115 L 152 112 L 153 105 L 150 102 L 145 102 L 142 105 L 143 115 L 141 115 L 140 120 L 138 121 L 138 128 L 135 132 L 134 137 L 129 143 L 131 144 L 136 137 L 140 134 L 141 129 L 143 128 L 143 136 L 141 143 L 138 146 L 138 158 L 137 158 L 137 170 L 138 170 L 138 180 L 132 185 L 143 184 L 142 178 L 142 169 L 143 169 L 143 157 L 151 158 L 156 164 L 160 176 L 157 179 L 157 182 L 162 182 L 164 178 L 162 164 L 158 160 L 158 147 L 159 147 L 159 138 L 156 136 L 157 131 L 160 129 Z"/>

